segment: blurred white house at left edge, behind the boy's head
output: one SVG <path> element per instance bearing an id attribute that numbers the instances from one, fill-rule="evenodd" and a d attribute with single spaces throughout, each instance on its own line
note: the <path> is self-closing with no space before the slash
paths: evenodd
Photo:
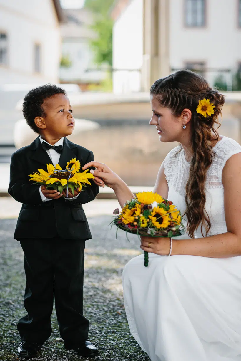
<path id="1" fill-rule="evenodd" d="M 59 0 L 0 0 L 0 83 L 58 82 Z"/>

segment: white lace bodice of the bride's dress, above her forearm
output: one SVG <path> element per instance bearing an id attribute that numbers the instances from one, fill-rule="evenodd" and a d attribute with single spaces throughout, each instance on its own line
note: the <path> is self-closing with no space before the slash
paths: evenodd
<path id="1" fill-rule="evenodd" d="M 164 160 L 166 180 L 168 182 L 168 200 L 173 201 L 181 214 L 185 212 L 185 194 L 186 182 L 189 178 L 190 163 L 186 161 L 184 150 L 182 149 L 177 155 L 180 147 L 172 149 Z M 209 234 L 215 235 L 227 232 L 225 214 L 224 214 L 224 190 L 222 183 L 222 171 L 226 161 L 236 153 L 241 152 L 241 145 L 235 140 L 223 137 L 214 147 L 215 156 L 211 166 L 207 171 L 206 177 L 206 205 L 205 209 L 210 217 L 211 229 Z M 183 218 L 183 224 L 186 226 L 186 219 Z M 195 232 L 195 238 L 201 238 L 201 227 Z M 203 233 L 206 234 L 203 227 Z M 178 238 L 189 238 L 184 234 Z"/>

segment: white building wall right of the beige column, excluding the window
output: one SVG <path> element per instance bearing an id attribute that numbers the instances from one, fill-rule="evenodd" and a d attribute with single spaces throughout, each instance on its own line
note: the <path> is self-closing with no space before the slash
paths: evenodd
<path id="1" fill-rule="evenodd" d="M 185 27 L 185 0 L 171 0 L 169 9 L 169 64 L 185 68 L 187 62 L 203 63 L 204 77 L 212 85 L 217 74 L 230 81 L 241 62 L 241 28 L 238 27 L 238 0 L 206 0 L 206 25 Z M 181 16 L 180 16 L 181 14 Z"/>

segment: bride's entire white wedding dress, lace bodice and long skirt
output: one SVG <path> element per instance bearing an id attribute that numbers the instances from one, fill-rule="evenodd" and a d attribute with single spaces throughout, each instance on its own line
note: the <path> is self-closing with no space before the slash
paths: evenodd
<path id="1" fill-rule="evenodd" d="M 183 150 L 175 157 L 178 149 L 166 156 L 165 174 L 168 199 L 183 214 L 189 163 Z M 211 235 L 227 232 L 222 170 L 241 146 L 223 137 L 213 150 L 205 206 Z M 199 227 L 195 238 L 200 237 Z M 179 237 L 185 238 L 187 234 Z M 152 361 L 241 361 L 241 256 L 149 253 L 149 266 L 144 267 L 140 255 L 123 270 L 123 290 L 130 331 Z"/>

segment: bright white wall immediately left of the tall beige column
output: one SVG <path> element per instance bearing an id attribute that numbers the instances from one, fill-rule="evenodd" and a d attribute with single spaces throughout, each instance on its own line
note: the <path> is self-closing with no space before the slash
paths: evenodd
<path id="1" fill-rule="evenodd" d="M 139 91 L 143 61 L 142 0 L 131 1 L 113 27 L 113 91 Z"/>

